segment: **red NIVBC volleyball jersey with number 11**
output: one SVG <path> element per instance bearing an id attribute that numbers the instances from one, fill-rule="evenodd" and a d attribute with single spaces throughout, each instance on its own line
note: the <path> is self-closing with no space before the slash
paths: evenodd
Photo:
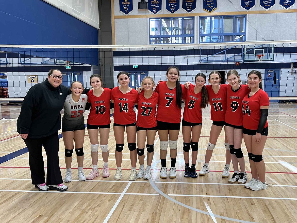
<path id="1" fill-rule="evenodd" d="M 211 85 L 205 86 L 210 104 L 210 119 L 212 121 L 225 121 L 227 110 L 227 85 L 221 84 L 218 93 L 214 93 Z"/>

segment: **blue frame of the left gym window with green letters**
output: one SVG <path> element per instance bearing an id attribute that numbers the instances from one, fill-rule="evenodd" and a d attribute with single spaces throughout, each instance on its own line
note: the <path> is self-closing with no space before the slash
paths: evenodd
<path id="1" fill-rule="evenodd" d="M 173 19 L 176 18 L 181 18 L 182 19 L 182 23 L 181 23 L 181 32 L 184 32 L 184 19 L 189 19 L 191 18 L 193 20 L 193 34 L 172 34 L 172 21 Z M 162 30 L 160 30 L 160 34 L 159 35 L 151 35 L 151 19 L 159 19 L 159 27 L 161 29 L 162 27 L 162 19 L 171 19 L 170 23 L 171 23 L 171 34 L 170 35 L 162 35 Z M 172 42 L 172 38 L 173 37 L 180 37 L 182 38 L 182 43 L 161 43 L 161 38 L 171 38 L 171 42 Z M 184 37 L 192 37 L 193 38 L 193 42 L 192 43 L 185 43 L 184 42 Z M 151 38 L 160 38 L 160 43 L 151 43 Z M 159 45 L 159 44 L 193 44 L 195 43 L 195 16 L 186 16 L 186 17 L 162 17 L 162 18 L 149 18 L 149 44 L 150 45 Z"/>

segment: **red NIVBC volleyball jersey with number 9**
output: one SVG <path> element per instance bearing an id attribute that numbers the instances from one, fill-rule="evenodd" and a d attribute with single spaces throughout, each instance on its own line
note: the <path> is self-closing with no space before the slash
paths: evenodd
<path id="1" fill-rule="evenodd" d="M 231 85 L 227 85 L 227 111 L 225 122 L 231 125 L 242 125 L 243 113 L 241 102 L 249 90 L 248 85 L 240 85 L 239 89 L 234 92 Z"/>

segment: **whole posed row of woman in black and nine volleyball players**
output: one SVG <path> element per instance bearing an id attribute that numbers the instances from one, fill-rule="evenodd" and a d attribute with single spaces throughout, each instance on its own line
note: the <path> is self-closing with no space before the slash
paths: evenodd
<path id="1" fill-rule="evenodd" d="M 74 81 L 69 88 L 61 85 L 63 76 L 58 69 L 50 70 L 48 78 L 30 88 L 24 98 L 17 121 L 17 130 L 29 150 L 29 166 L 32 184 L 40 191 L 66 191 L 59 167 L 59 137 L 61 129 L 65 146 L 66 174 L 64 182 L 71 182 L 72 153 L 75 149 L 78 164 L 79 181 L 93 180 L 99 176 L 98 149 L 102 151 L 102 177 L 109 177 L 108 139 L 110 133 L 110 109 L 113 112 L 113 131 L 116 141 L 115 180 L 121 180 L 121 163 L 124 149 L 124 132 L 127 132 L 127 146 L 130 153 L 131 171 L 129 180 L 151 178 L 151 163 L 154 156 L 154 139 L 158 131 L 160 139 L 160 178 L 168 177 L 166 167 L 167 149 L 170 149 L 169 178 L 176 177 L 177 140 L 182 128 L 184 177 L 204 176 L 209 172 L 209 161 L 223 127 L 225 131 L 225 167 L 222 177 L 230 177 L 230 163 L 234 174 L 229 183 L 238 182 L 254 191 L 267 189 L 265 181 L 265 163 L 262 158 L 268 135 L 269 98 L 262 90 L 262 77 L 259 71 L 249 72 L 248 85 L 241 85 L 236 70 L 227 73 L 227 84 L 221 84 L 218 71 L 195 76 L 195 84 L 180 84 L 180 71 L 170 66 L 166 72 L 166 81 L 160 80 L 155 86 L 154 80 L 144 77 L 141 87 L 136 91 L 129 87 L 130 77 L 125 71 L 117 75 L 119 86 L 103 88 L 102 78 L 98 74 L 90 77 L 91 89 Z M 181 121 L 181 105 L 185 102 Z M 202 108 L 211 106 L 209 142 L 205 154 L 205 163 L 197 174 L 196 161 L 198 144 L 202 130 Z M 134 107 L 138 110 L 137 117 Z M 64 108 L 61 122 L 60 111 Z M 83 113 L 90 109 L 87 130 L 91 144 L 92 170 L 86 176 L 83 172 L 83 142 L 85 124 Z M 48 126 L 48 128 L 44 128 Z M 137 133 L 137 134 L 136 134 Z M 100 137 L 100 144 L 98 140 Z M 247 148 L 252 179 L 247 182 L 244 155 L 241 150 L 242 139 Z M 137 146 L 136 146 L 137 140 Z M 74 142 L 74 143 L 73 143 Z M 42 145 L 47 155 L 47 182 L 42 157 Z M 144 167 L 145 147 L 147 166 Z M 189 150 L 192 150 L 189 165 Z M 137 158 L 140 164 L 136 171 Z M 239 165 L 238 165 L 239 164 Z M 240 167 L 240 172 L 239 168 Z"/>

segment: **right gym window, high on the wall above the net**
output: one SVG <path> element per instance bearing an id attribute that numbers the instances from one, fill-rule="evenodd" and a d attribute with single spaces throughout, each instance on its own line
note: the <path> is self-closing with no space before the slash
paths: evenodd
<path id="1" fill-rule="evenodd" d="M 200 17 L 200 43 L 246 41 L 246 16 Z"/>

